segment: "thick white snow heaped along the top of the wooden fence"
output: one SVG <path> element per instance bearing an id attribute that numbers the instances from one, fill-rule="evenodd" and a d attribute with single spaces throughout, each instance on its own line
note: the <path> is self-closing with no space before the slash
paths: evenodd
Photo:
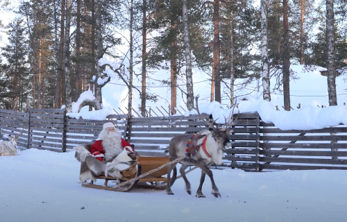
<path id="1" fill-rule="evenodd" d="M 76 104 L 78 102 L 73 104 L 73 110 Z M 221 103 L 216 101 L 201 103 L 198 105 L 198 109 L 201 114 L 212 114 L 216 123 L 222 124 L 232 114 L 232 108 L 223 110 L 221 109 Z M 244 112 L 258 112 L 262 121 L 274 123 L 281 130 L 314 130 L 327 126 L 337 126 L 339 123 L 347 125 L 346 105 L 330 106 L 323 109 L 307 106 L 298 110 L 278 112 L 269 101 L 258 99 L 256 101 L 240 101 L 239 107 L 234 109 L 234 114 Z M 109 105 L 106 105 L 102 110 L 68 113 L 67 115 L 76 119 L 82 117 L 83 119 L 103 120 L 110 114 L 115 114 L 115 112 Z M 185 112 L 186 117 L 190 114 L 198 114 L 198 112 L 196 110 Z"/>

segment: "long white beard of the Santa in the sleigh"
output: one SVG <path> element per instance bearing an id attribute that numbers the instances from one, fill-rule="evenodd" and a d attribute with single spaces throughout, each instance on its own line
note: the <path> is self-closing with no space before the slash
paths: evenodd
<path id="1" fill-rule="evenodd" d="M 117 129 L 116 129 L 117 130 Z M 105 133 L 103 137 L 103 149 L 105 150 L 105 160 L 113 160 L 119 153 L 121 153 L 121 133 L 117 132 Z"/>

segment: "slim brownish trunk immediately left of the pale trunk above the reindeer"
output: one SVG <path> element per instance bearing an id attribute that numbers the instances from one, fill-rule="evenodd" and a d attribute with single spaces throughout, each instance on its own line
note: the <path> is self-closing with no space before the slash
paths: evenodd
<path id="1" fill-rule="evenodd" d="M 171 73 L 171 108 L 176 107 L 177 95 L 177 18 L 174 17 L 171 21 L 171 58 L 170 58 L 170 73 Z"/>

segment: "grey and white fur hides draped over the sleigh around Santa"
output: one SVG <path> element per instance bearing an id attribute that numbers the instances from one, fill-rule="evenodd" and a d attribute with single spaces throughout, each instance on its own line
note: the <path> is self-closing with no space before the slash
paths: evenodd
<path id="1" fill-rule="evenodd" d="M 78 153 L 78 160 L 81 161 L 81 167 L 85 167 L 83 173 L 80 174 L 81 182 L 86 182 L 88 179 L 95 182 L 96 177 L 100 176 L 102 173 L 104 173 L 105 176 L 117 178 L 119 181 L 121 179 L 120 171 L 130 167 L 130 161 L 136 160 L 136 155 L 130 148 L 124 148 L 112 162 L 107 163 L 96 160 L 90 151 L 87 150 L 86 146 L 75 146 L 74 150 Z M 76 156 L 77 155 L 75 155 L 75 157 Z M 90 173 L 90 175 L 88 173 Z"/>

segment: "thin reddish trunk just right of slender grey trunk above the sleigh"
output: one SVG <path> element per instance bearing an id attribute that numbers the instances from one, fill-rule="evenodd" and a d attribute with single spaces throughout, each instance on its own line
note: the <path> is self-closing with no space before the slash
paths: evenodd
<path id="1" fill-rule="evenodd" d="M 146 117 L 146 0 L 142 1 L 142 94 L 141 94 L 141 115 Z"/>

